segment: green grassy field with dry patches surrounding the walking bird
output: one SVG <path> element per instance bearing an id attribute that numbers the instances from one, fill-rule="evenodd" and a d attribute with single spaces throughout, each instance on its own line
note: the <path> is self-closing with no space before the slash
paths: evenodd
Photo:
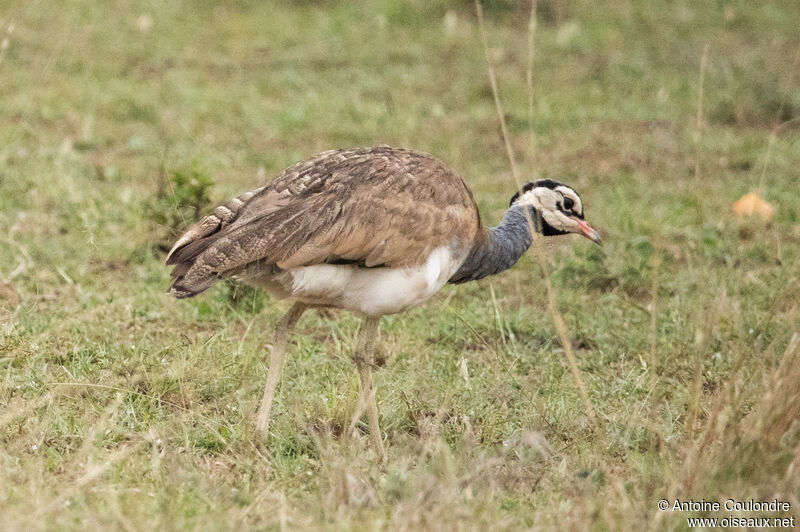
<path id="1" fill-rule="evenodd" d="M 359 320 L 304 317 L 261 445 L 287 303 L 175 301 L 164 246 L 295 161 L 377 143 L 438 155 L 499 221 L 514 184 L 473 5 L 4 0 L 0 529 L 800 517 L 800 10 L 539 0 L 532 122 L 528 16 L 487 1 L 488 55 L 525 176 L 572 184 L 606 241 L 534 249 L 596 415 L 529 254 L 383 320 L 380 467 L 366 420 L 342 434 Z M 732 214 L 750 190 L 770 224 Z M 676 498 L 791 509 L 659 511 Z"/>

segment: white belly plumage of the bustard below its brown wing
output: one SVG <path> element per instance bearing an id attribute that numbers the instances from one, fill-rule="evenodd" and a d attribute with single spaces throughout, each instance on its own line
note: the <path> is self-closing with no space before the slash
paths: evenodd
<path id="1" fill-rule="evenodd" d="M 285 276 L 281 283 L 284 294 L 290 292 L 298 301 L 380 316 L 427 300 L 444 286 L 463 260 L 463 256 L 453 257 L 447 248 L 440 247 L 424 264 L 410 268 L 317 264 L 292 268 L 280 277 Z"/>

